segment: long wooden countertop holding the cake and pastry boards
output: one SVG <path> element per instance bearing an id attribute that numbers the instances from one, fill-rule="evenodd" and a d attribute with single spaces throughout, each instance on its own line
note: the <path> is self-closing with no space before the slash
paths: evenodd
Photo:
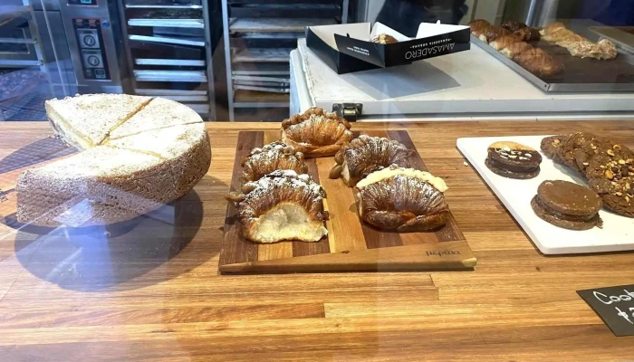
<path id="1" fill-rule="evenodd" d="M 634 253 L 543 256 L 463 165 L 456 138 L 586 130 L 634 147 L 634 122 L 355 124 L 408 129 L 450 186 L 475 271 L 219 275 L 237 133 L 277 127 L 210 123 L 212 165 L 194 191 L 108 240 L 99 228 L 17 229 L 5 218 L 0 360 L 632 359 L 634 337 L 614 337 L 575 291 L 634 282 Z M 0 123 L 9 199 L 50 134 L 45 123 Z"/>

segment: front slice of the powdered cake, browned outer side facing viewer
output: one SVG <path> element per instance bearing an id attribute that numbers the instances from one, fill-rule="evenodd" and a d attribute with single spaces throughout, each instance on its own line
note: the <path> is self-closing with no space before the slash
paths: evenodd
<path id="1" fill-rule="evenodd" d="M 159 157 L 98 146 L 17 180 L 17 219 L 42 226 L 129 220 L 172 201 L 173 176 Z"/>

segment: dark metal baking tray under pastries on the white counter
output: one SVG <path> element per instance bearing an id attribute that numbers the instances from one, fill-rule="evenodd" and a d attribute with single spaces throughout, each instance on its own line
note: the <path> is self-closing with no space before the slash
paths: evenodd
<path id="1" fill-rule="evenodd" d="M 573 57 L 568 50 L 544 41 L 532 43 L 533 46 L 542 48 L 563 62 L 565 66 L 562 74 L 542 79 L 526 71 L 474 35 L 471 35 L 471 43 L 493 55 L 524 79 L 533 83 L 535 87 L 547 93 L 634 91 L 634 57 L 625 52 L 620 51 L 614 60 L 599 61 Z"/>

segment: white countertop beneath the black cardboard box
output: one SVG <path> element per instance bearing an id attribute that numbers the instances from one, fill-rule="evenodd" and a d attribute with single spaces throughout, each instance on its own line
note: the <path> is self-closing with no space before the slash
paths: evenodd
<path id="1" fill-rule="evenodd" d="M 338 75 L 301 39 L 291 62 L 292 87 L 308 100 L 301 109 L 360 102 L 364 119 L 634 119 L 634 93 L 545 93 L 473 43 L 466 52 Z"/>

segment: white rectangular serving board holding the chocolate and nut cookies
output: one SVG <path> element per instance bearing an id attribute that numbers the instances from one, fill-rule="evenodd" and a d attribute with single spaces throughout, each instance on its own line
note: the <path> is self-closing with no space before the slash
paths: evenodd
<path id="1" fill-rule="evenodd" d="M 485 166 L 487 148 L 496 141 L 521 143 L 541 153 L 540 144 L 544 137 L 548 135 L 458 138 L 457 147 L 544 254 L 634 250 L 633 218 L 620 216 L 603 208 L 599 212 L 603 219 L 602 229 L 595 227 L 591 230 L 575 231 L 546 223 L 533 212 L 531 200 L 543 181 L 564 180 L 588 186 L 587 180 L 572 168 L 556 164 L 543 154 L 539 176 L 528 180 L 498 176 Z"/>

